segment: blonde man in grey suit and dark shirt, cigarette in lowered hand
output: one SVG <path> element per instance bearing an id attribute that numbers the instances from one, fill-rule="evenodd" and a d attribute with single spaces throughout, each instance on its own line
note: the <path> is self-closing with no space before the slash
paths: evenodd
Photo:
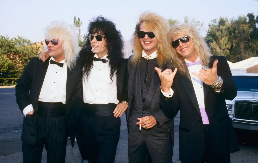
<path id="1" fill-rule="evenodd" d="M 171 93 L 162 89 L 155 70 L 163 69 L 166 77 L 176 72 L 167 69 L 171 61 L 168 29 L 168 21 L 152 12 L 141 14 L 135 27 L 134 55 L 128 61 L 129 162 L 144 162 L 148 154 L 152 162 L 172 162 L 174 121 L 162 111 L 162 101 Z"/>

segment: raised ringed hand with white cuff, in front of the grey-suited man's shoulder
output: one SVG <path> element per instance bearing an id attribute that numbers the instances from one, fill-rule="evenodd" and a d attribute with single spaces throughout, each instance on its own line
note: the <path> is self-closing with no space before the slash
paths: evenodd
<path id="1" fill-rule="evenodd" d="M 155 67 L 157 71 L 160 81 L 161 81 L 161 89 L 163 92 L 170 92 L 170 88 L 173 84 L 173 79 L 176 74 L 177 69 L 175 68 L 174 72 L 171 69 L 166 69 L 163 72 L 162 70 Z"/>

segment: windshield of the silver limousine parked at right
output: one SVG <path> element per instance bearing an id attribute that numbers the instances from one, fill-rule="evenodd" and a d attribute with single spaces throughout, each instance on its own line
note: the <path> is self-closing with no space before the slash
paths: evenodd
<path id="1" fill-rule="evenodd" d="M 233 76 L 237 91 L 258 92 L 258 76 Z"/>

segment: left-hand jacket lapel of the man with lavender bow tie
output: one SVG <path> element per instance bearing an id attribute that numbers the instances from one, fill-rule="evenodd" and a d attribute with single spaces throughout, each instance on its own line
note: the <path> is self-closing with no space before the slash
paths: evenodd
<path id="1" fill-rule="evenodd" d="M 189 99 L 191 100 L 193 106 L 198 111 L 198 113 L 201 115 L 192 82 L 189 81 L 185 76 L 182 76 L 182 78 L 180 79 L 180 82 L 181 82 L 184 90 L 186 91 L 186 94 L 188 95 Z"/>

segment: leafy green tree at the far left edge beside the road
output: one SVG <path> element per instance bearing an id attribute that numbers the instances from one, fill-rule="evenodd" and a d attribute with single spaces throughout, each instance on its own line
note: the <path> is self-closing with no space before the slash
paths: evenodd
<path id="1" fill-rule="evenodd" d="M 40 46 L 21 36 L 10 39 L 0 35 L 0 85 L 14 85 L 31 57 L 39 54 Z M 4 78 L 4 79 L 3 79 Z"/>

